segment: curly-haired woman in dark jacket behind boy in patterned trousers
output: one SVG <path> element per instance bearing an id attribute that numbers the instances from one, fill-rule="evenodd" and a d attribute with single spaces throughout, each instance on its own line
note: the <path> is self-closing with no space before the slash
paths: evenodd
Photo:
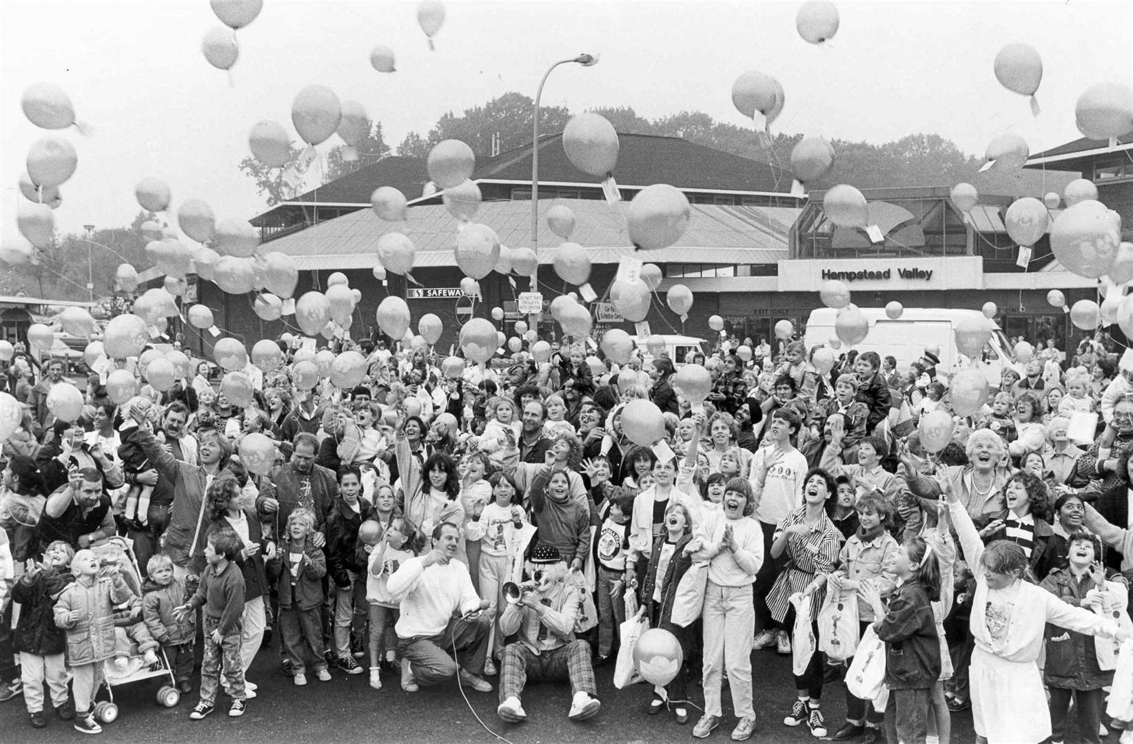
<path id="1" fill-rule="evenodd" d="M 205 502 L 211 520 L 207 532 L 231 530 L 240 538 L 240 551 L 233 561 L 244 575 L 240 661 L 244 664 L 246 695 L 255 698 L 256 685 L 247 681 L 247 674 L 264 640 L 264 628 L 267 627 L 267 606 L 264 604 L 267 574 L 264 571 L 264 559 L 271 559 L 275 555 L 275 544 L 264 539 L 256 510 L 245 505 L 244 491 L 235 477 L 222 474 L 214 478 L 208 485 Z"/>

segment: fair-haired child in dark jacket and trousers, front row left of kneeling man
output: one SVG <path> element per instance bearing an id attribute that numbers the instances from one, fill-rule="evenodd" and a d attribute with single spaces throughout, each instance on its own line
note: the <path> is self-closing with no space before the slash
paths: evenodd
<path id="1" fill-rule="evenodd" d="M 307 684 L 308 657 L 315 676 L 322 682 L 331 681 L 320 616 L 326 557 L 312 541 L 314 532 L 314 513 L 304 507 L 295 510 L 288 515 L 287 532 L 275 557 L 267 562 L 267 575 L 279 582 L 278 622 L 298 686 Z"/>

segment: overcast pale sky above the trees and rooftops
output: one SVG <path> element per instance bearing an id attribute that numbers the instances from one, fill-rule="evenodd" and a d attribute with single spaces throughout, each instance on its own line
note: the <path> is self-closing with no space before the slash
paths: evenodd
<path id="1" fill-rule="evenodd" d="M 1026 137 L 1032 153 L 1074 139 L 1082 91 L 1101 80 L 1133 83 L 1128 0 L 838 0 L 841 28 L 823 46 L 795 33 L 799 6 L 450 1 L 429 52 L 416 2 L 265 0 L 237 34 L 230 85 L 201 53 L 202 36 L 220 25 L 207 0 L 0 0 L 0 226 L 3 236 L 16 231 L 24 156 L 48 134 L 19 105 L 40 80 L 63 87 L 92 128 L 88 137 L 62 134 L 79 154 L 56 212 L 62 231 L 127 224 L 138 209 L 134 185 L 146 176 L 172 187 L 174 205 L 198 197 L 218 216 L 262 212 L 262 198 L 237 170 L 248 130 L 274 119 L 293 131 L 291 101 L 312 83 L 361 102 L 395 146 L 446 111 L 512 89 L 534 96 L 551 62 L 582 51 L 600 53 L 600 62 L 556 70 L 545 103 L 573 111 L 630 105 L 647 118 L 699 110 L 742 125 L 731 85 L 758 69 L 786 92 L 775 130 L 874 143 L 937 132 L 979 155 L 1006 129 Z M 1037 120 L 993 74 L 996 52 L 1013 41 L 1033 45 L 1043 60 Z M 376 44 L 393 48 L 398 72 L 369 66 Z"/>

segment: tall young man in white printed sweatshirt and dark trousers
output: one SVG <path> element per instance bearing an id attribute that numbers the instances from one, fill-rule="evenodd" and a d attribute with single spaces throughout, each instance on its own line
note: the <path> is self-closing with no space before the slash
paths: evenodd
<path id="1" fill-rule="evenodd" d="M 802 506 L 802 485 L 809 465 L 807 457 L 791 443 L 801 424 L 794 410 L 777 409 L 768 424 L 766 441 L 769 444 L 751 457 L 751 471 L 748 476 L 756 496 L 756 521 L 763 529 L 764 549 L 767 550 L 756 578 L 756 625 L 760 633 L 753 647 L 764 649 L 777 645 L 778 652 L 784 655 L 791 652 L 791 641 L 785 630 L 777 628 L 776 633 L 776 624 L 767 609 L 767 595 L 775 584 L 776 576 L 782 573 L 786 559 L 773 558 L 770 547 L 775 541 L 775 527 L 780 520 Z"/>

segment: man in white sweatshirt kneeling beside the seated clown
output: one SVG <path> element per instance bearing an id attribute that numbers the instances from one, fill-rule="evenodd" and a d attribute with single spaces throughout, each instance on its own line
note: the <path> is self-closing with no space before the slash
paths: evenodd
<path id="1" fill-rule="evenodd" d="M 480 613 L 492 602 L 476 595 L 468 566 L 453 559 L 460 540 L 458 525 L 437 524 L 435 547 L 390 576 L 386 589 L 401 604 L 394 631 L 417 684 L 435 685 L 459 675 L 462 685 L 492 692 L 492 685 L 472 673 L 484 668 L 492 621 Z M 454 617 L 458 610 L 461 617 Z"/>

